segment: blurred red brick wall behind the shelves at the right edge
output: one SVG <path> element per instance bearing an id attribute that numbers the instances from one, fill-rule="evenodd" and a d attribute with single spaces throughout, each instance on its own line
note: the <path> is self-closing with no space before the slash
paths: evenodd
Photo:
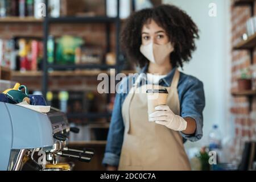
<path id="1" fill-rule="evenodd" d="M 232 46 L 236 46 L 241 41 L 241 36 L 246 32 L 246 20 L 250 18 L 251 11 L 249 6 L 234 7 L 232 1 Z M 256 10 L 256 6 L 254 7 Z M 256 12 L 256 11 L 255 11 Z M 232 51 L 232 88 L 231 92 L 238 90 L 237 78 L 241 75 L 242 68 L 251 68 L 255 70 L 256 51 L 254 50 L 253 65 L 250 65 L 249 51 Z M 238 158 L 243 150 L 243 143 L 255 137 L 255 117 L 256 100 L 253 98 L 252 109 L 250 110 L 248 97 L 233 97 L 232 113 L 233 125 L 235 127 L 236 139 L 234 141 L 233 151 Z"/>

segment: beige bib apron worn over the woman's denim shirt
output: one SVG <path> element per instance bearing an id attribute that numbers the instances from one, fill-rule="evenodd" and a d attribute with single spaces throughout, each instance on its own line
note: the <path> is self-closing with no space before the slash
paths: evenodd
<path id="1" fill-rule="evenodd" d="M 180 114 L 179 77 L 176 69 L 171 86 L 166 88 L 169 92 L 167 105 L 175 114 Z M 122 105 L 125 133 L 118 170 L 191 170 L 180 133 L 148 122 L 146 90 L 153 86 L 138 87 L 138 81 L 139 78 Z M 157 88 L 164 87 L 157 85 Z"/>

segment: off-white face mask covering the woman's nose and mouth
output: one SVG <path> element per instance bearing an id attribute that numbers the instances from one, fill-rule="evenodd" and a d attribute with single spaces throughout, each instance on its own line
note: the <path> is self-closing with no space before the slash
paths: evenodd
<path id="1" fill-rule="evenodd" d="M 152 63 L 163 64 L 167 57 L 170 56 L 170 53 L 174 51 L 174 47 L 171 42 L 164 45 L 151 42 L 147 45 L 141 45 L 140 51 Z"/>

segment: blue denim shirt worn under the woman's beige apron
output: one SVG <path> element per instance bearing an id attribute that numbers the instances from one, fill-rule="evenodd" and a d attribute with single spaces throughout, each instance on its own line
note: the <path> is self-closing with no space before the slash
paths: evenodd
<path id="1" fill-rule="evenodd" d="M 160 79 L 159 85 L 166 87 L 171 86 L 171 81 L 174 77 L 175 70 L 176 67 L 173 68 L 166 77 Z M 143 75 L 146 75 L 146 72 L 147 66 L 142 68 L 140 74 L 145 73 Z M 137 74 L 137 76 L 138 75 L 139 74 Z M 110 122 L 108 133 L 108 142 L 106 144 L 106 150 L 102 164 L 108 164 L 110 166 L 118 166 L 119 164 L 119 158 L 121 155 L 123 143 L 123 135 L 125 131 L 125 126 L 122 118 L 122 104 L 128 93 L 123 92 L 123 90 L 126 89 L 129 91 L 137 76 L 127 76 L 123 78 L 121 84 L 119 84 L 119 90 L 115 96 L 112 119 Z M 140 81 L 139 84 L 143 85 L 142 82 L 143 81 Z M 201 82 L 196 77 L 185 75 L 184 73 L 180 72 L 180 79 L 177 86 L 177 91 L 180 100 L 181 117 L 190 117 L 195 119 L 196 121 L 195 134 L 187 135 L 181 132 L 180 134 L 183 137 L 183 142 L 185 142 L 186 140 L 195 142 L 203 137 L 203 109 L 205 106 L 203 82 Z"/>

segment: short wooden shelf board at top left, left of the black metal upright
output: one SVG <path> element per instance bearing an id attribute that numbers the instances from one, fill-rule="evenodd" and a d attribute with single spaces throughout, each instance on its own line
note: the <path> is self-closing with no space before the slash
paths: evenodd
<path id="1" fill-rule="evenodd" d="M 0 18 L 0 23 L 43 23 L 43 19 L 36 19 L 34 17 L 18 17 L 18 16 L 9 16 L 5 18 Z"/>

